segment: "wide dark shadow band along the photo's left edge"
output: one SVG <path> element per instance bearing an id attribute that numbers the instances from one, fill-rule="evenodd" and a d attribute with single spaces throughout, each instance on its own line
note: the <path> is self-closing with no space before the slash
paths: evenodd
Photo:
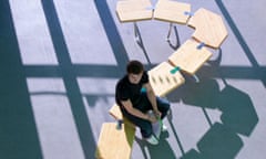
<path id="1" fill-rule="evenodd" d="M 0 1 L 0 158 L 43 158 L 11 9 Z"/>

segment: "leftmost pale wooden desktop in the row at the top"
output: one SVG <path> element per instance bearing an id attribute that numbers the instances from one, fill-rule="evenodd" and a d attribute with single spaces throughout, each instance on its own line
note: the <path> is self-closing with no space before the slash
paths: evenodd
<path id="1" fill-rule="evenodd" d="M 151 20 L 153 7 L 150 0 L 121 0 L 116 3 L 116 13 L 121 22 Z"/>

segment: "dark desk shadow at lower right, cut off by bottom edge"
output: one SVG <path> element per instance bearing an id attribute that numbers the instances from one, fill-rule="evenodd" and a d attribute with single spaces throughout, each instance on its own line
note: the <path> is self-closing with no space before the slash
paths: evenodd
<path id="1" fill-rule="evenodd" d="M 197 142 L 197 147 L 198 151 L 191 149 L 181 159 L 234 159 L 243 141 L 228 127 L 215 123 Z"/>

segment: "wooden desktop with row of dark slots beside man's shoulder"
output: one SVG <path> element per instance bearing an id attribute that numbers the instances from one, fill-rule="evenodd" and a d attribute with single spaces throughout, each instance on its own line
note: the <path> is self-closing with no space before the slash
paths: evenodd
<path id="1" fill-rule="evenodd" d="M 163 62 L 149 71 L 150 83 L 157 96 L 165 96 L 185 82 L 180 72 L 171 73 L 173 68 L 167 62 Z"/>

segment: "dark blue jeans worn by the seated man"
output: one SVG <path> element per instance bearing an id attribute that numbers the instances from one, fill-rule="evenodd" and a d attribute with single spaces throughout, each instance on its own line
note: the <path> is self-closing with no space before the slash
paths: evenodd
<path id="1" fill-rule="evenodd" d="M 157 108 L 162 113 L 162 119 L 167 115 L 170 109 L 170 103 L 166 99 L 161 97 L 156 97 Z M 134 108 L 141 110 L 146 114 L 149 110 L 152 110 L 152 104 L 150 103 L 146 93 L 141 93 L 141 99 L 137 105 L 133 105 Z M 136 117 L 132 114 L 129 114 L 123 107 L 120 107 L 124 117 L 126 117 L 130 121 L 136 125 L 141 129 L 141 134 L 143 138 L 149 138 L 153 134 L 152 123 Z"/>

